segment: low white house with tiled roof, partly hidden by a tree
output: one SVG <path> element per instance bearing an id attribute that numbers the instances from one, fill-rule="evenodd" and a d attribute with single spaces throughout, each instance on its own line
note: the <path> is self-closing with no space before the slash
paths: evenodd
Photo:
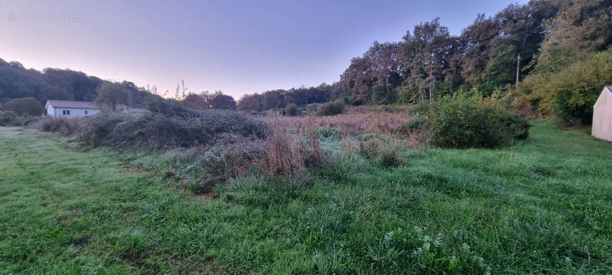
<path id="1" fill-rule="evenodd" d="M 45 109 L 47 109 L 47 115 L 51 117 L 83 117 L 100 112 L 99 106 L 89 101 L 47 100 Z M 128 108 L 125 105 L 116 105 L 115 109 L 117 112 L 126 112 L 132 116 L 140 116 L 144 113 L 144 109 Z"/>

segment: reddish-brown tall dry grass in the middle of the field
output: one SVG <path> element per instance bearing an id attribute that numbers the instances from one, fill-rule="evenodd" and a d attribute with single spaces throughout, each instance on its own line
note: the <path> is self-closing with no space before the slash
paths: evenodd
<path id="1" fill-rule="evenodd" d="M 412 126 L 409 108 L 400 107 L 390 112 L 384 106 L 359 106 L 347 114 L 327 117 L 260 117 L 269 131 L 264 169 L 271 175 L 291 175 L 302 174 L 307 166 L 323 165 L 318 128 L 338 129 L 341 147 L 349 157 L 356 153 L 368 158 L 379 156 L 383 163 L 397 166 L 400 150 L 424 149 L 431 138 L 426 128 Z M 368 138 L 359 139 L 358 147 L 351 142 L 351 138 L 368 133 Z"/>

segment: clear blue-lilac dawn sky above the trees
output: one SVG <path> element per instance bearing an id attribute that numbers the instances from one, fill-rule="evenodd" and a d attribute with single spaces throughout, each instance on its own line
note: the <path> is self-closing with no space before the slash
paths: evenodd
<path id="1" fill-rule="evenodd" d="M 331 84 L 374 41 L 436 17 L 458 35 L 516 2 L 0 0 L 0 58 L 238 99 Z"/>

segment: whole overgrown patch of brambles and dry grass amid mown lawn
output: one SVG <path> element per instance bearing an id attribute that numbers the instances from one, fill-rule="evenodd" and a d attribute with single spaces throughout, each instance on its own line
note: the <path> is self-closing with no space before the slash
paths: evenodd
<path id="1" fill-rule="evenodd" d="M 148 108 L 153 111 L 141 116 L 105 111 L 81 119 L 47 117 L 37 126 L 75 135 L 90 149 L 147 152 L 158 159 L 151 167 L 184 178 L 190 183 L 185 190 L 192 194 L 257 171 L 262 177 L 307 178 L 337 166 L 346 154 L 354 158 L 349 147 L 343 152 L 341 138 L 383 166 L 400 165 L 398 150 L 425 148 L 430 138 L 424 123 L 415 123 L 401 107 L 355 108 L 351 114 L 327 117 L 258 118 L 235 111 L 196 111 L 178 101 L 153 101 Z M 371 152 L 365 147 L 372 147 Z"/>

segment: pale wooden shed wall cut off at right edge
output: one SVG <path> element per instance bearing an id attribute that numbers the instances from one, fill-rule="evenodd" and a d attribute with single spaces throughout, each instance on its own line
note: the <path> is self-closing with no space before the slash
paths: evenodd
<path id="1" fill-rule="evenodd" d="M 593 126 L 595 138 L 612 141 L 612 86 L 603 87 L 602 94 L 593 105 Z"/>

